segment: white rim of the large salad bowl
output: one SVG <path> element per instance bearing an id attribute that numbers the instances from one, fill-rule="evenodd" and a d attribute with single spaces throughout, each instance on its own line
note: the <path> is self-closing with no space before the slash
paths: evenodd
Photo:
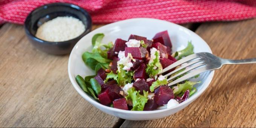
<path id="1" fill-rule="evenodd" d="M 130 22 L 130 21 L 136 21 L 136 20 L 155 20 L 155 21 L 162 21 L 162 22 L 168 22 L 174 26 L 179 26 L 179 27 L 182 27 L 183 29 L 186 29 L 188 30 L 189 32 L 192 32 L 193 34 L 197 35 L 195 32 L 187 29 L 186 27 L 183 27 L 183 26 L 180 26 L 178 24 L 175 24 L 175 23 L 172 23 L 172 22 L 169 22 L 169 21 L 165 21 L 165 20 L 159 20 L 159 19 L 155 19 L 155 18 L 131 18 L 131 19 L 127 19 L 127 20 L 122 20 L 122 21 L 117 21 L 117 22 L 114 22 L 114 23 L 111 23 L 111 24 L 107 24 L 105 26 L 102 26 L 102 27 L 99 27 L 98 29 L 105 29 L 105 27 L 109 27 L 109 26 L 115 26 L 116 24 L 119 24 L 119 23 L 126 23 L 126 22 Z M 98 29 L 95 29 L 95 30 L 98 30 Z M 93 30 L 94 31 L 94 30 Z M 93 32 L 91 31 L 91 32 Z M 90 33 L 91 33 L 90 32 Z M 197 35 L 202 41 L 204 41 L 199 35 Z M 84 37 L 83 37 L 84 38 Z M 82 40 L 82 38 L 80 39 Z M 80 41 L 79 40 L 79 41 Z M 204 43 L 206 44 L 206 46 L 210 49 L 209 45 L 204 41 Z M 161 113 L 161 112 L 165 112 L 165 111 L 169 111 L 169 110 L 172 110 L 172 109 L 175 109 L 175 108 L 178 108 L 178 107 L 181 107 L 189 102 L 192 102 L 194 101 L 195 99 L 198 98 L 198 96 L 200 96 L 205 90 L 206 88 L 210 85 L 210 82 L 212 81 L 213 79 L 213 76 L 214 76 L 214 70 L 213 71 L 210 71 L 209 75 L 207 76 L 207 81 L 204 81 L 202 84 L 204 85 L 201 90 L 197 91 L 192 98 L 189 98 L 187 99 L 186 101 L 180 103 L 179 105 L 175 106 L 175 107 L 171 107 L 171 108 L 165 108 L 165 109 L 162 109 L 162 110 L 152 110 L 152 111 L 130 111 L 130 110 L 121 110 L 121 109 L 117 109 L 117 108 L 112 108 L 112 107 L 108 107 L 108 106 L 105 106 L 105 105 L 102 105 L 100 104 L 99 102 L 96 102 L 94 101 L 94 99 L 90 98 L 80 87 L 79 85 L 76 83 L 75 81 L 75 78 L 73 78 L 72 74 L 71 74 L 71 58 L 72 58 L 72 55 L 73 55 L 73 52 L 75 50 L 75 47 L 77 47 L 78 43 L 76 43 L 76 45 L 73 47 L 71 53 L 70 53 L 70 56 L 69 56 L 69 62 L 68 62 L 68 74 L 69 74 L 69 79 L 73 85 L 73 87 L 75 88 L 76 91 L 78 91 L 78 93 L 85 99 L 87 100 L 88 102 L 90 102 L 91 104 L 93 104 L 94 107 L 98 108 L 99 107 L 102 107 L 104 109 L 107 109 L 107 110 L 110 110 L 110 111 L 115 111 L 115 112 L 119 112 L 119 113 L 127 113 L 127 114 L 154 114 L 154 113 Z M 212 53 L 212 50 L 210 49 L 210 52 L 209 53 Z M 98 106 L 96 106 L 98 105 Z"/>

